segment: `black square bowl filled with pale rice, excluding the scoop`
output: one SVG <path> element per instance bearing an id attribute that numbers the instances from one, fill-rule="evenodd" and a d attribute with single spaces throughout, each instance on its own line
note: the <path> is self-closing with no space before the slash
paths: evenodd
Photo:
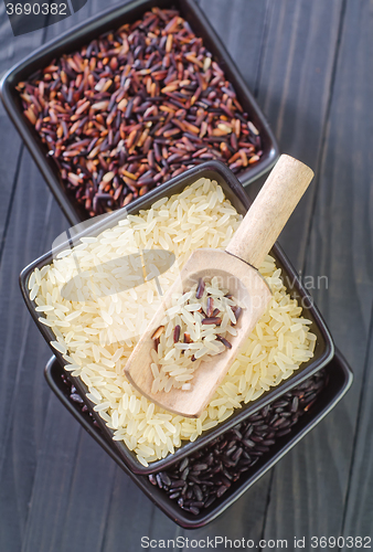
<path id="1" fill-rule="evenodd" d="M 232 171 L 209 161 L 134 208 L 105 216 L 21 273 L 41 333 L 134 473 L 162 469 L 206 445 L 333 355 L 312 298 L 275 245 L 260 267 L 273 291 L 269 308 L 200 417 L 160 408 L 126 380 L 124 367 L 163 290 L 193 250 L 226 247 L 249 205 Z"/>

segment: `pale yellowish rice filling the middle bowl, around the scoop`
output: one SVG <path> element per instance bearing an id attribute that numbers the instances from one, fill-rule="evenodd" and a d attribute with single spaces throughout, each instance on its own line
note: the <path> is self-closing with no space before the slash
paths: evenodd
<path id="1" fill-rule="evenodd" d="M 40 321 L 52 328 L 56 337 L 52 344 L 67 362 L 66 370 L 87 385 L 87 397 L 114 431 L 113 438 L 122 440 L 145 466 L 172 454 L 182 440 L 195 440 L 313 355 L 311 322 L 301 317 L 301 307 L 286 291 L 281 270 L 267 256 L 260 273 L 274 294 L 269 307 L 199 418 L 183 418 L 156 406 L 126 380 L 124 367 L 159 305 L 159 286 L 168 289 L 194 248 L 225 248 L 241 220 L 222 188 L 200 179 L 99 236 L 83 237 L 29 279 L 30 298 Z M 136 259 L 141 256 L 134 254 L 140 250 L 156 250 L 151 279 L 146 282 L 136 273 Z M 173 252 L 177 258 L 162 274 L 157 264 L 160 250 Z M 139 285 L 124 289 L 126 278 Z M 66 293 L 74 286 L 79 300 L 72 299 L 73 291 Z"/>

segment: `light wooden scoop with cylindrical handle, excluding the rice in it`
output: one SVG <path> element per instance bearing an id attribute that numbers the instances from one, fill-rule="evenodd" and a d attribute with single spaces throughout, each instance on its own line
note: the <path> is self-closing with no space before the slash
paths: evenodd
<path id="1" fill-rule="evenodd" d="M 225 252 L 200 248 L 191 254 L 125 367 L 128 380 L 140 393 L 175 414 L 186 417 L 199 417 L 202 414 L 239 347 L 266 310 L 271 293 L 257 268 L 312 178 L 313 172 L 309 167 L 289 156 L 281 156 Z M 152 393 L 152 336 L 164 325 L 164 311 L 172 305 L 171 295 L 185 293 L 200 278 L 211 280 L 213 276 L 219 277 L 219 287 L 228 289 L 244 307 L 235 326 L 237 336 L 231 340 L 232 349 L 226 349 L 210 361 L 202 360 L 191 380 L 191 390 L 172 388 L 168 393 Z"/>

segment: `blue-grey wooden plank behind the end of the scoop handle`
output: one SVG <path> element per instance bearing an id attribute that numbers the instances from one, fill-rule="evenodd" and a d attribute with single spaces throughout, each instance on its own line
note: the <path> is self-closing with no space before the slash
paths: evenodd
<path id="1" fill-rule="evenodd" d="M 319 164 L 342 0 L 270 2 L 258 103 L 280 150 L 313 170 Z M 316 185 L 311 184 L 284 229 L 280 243 L 302 268 Z"/>

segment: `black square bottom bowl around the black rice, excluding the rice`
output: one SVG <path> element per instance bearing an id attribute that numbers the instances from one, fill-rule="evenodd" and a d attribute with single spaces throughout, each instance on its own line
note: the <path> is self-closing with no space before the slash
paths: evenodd
<path id="1" fill-rule="evenodd" d="M 204 509 L 198 516 L 193 516 L 182 510 L 174 500 L 170 500 L 166 493 L 150 484 L 148 477 L 135 475 L 124 463 L 118 452 L 113 447 L 113 442 L 107 439 L 98 427 L 93 423 L 92 417 L 82 413 L 77 403 L 70 400 L 68 389 L 62 380 L 62 375 L 67 373 L 60 362 L 52 357 L 45 367 L 45 378 L 54 393 L 82 426 L 92 435 L 97 443 L 108 453 L 109 456 L 129 475 L 136 485 L 157 505 L 169 518 L 179 526 L 195 529 L 205 526 L 235 500 L 237 500 L 252 485 L 254 485 L 268 469 L 270 469 L 286 453 L 290 450 L 299 440 L 310 432 L 342 399 L 350 389 L 353 380 L 352 371 L 341 353 L 335 351 L 333 359 L 324 368 L 328 374 L 327 386 L 321 391 L 312 407 L 305 413 L 294 425 L 291 433 L 280 437 L 271 446 L 270 452 L 263 455 L 259 461 L 233 484 L 231 489 L 217 499 L 211 507 Z"/>

